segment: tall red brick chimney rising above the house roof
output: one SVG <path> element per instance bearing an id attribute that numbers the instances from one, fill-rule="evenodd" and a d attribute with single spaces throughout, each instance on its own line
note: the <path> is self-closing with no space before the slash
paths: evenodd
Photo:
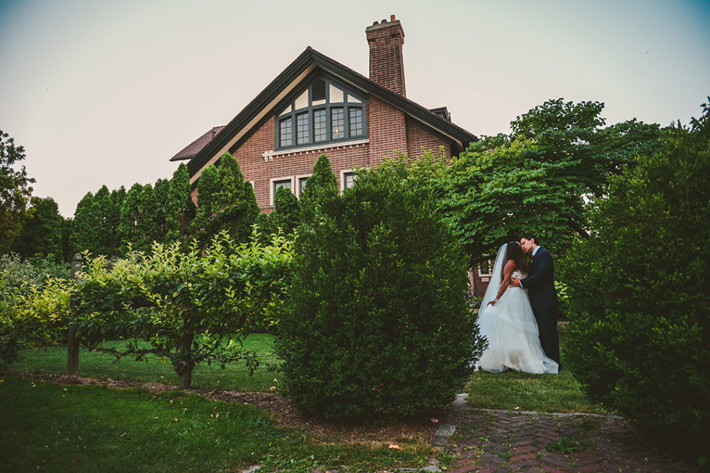
<path id="1" fill-rule="evenodd" d="M 404 87 L 404 61 L 402 45 L 404 30 L 394 15 L 390 21 L 373 23 L 365 29 L 370 45 L 370 79 L 402 96 L 407 96 Z"/>

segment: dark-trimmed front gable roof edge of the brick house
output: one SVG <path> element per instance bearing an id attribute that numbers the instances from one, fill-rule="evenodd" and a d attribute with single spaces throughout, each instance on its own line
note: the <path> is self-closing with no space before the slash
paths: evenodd
<path id="1" fill-rule="evenodd" d="M 461 152 L 466 149 L 469 143 L 478 140 L 476 135 L 454 125 L 410 99 L 373 82 L 330 57 L 322 55 L 309 46 L 187 163 L 192 182 L 195 182 L 202 169 L 207 167 L 210 162 L 224 155 L 224 152 L 238 147 L 246 138 L 249 138 L 253 131 L 268 121 L 275 113 L 277 106 L 280 106 L 294 89 L 319 73 L 332 75 L 365 94 L 376 96 L 395 108 L 399 108 L 415 123 L 450 140 L 454 144 L 452 153 L 454 151 Z"/>

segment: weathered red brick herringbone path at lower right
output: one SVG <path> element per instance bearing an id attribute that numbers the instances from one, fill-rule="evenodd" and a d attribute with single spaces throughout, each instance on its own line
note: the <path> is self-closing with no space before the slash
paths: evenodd
<path id="1" fill-rule="evenodd" d="M 614 416 L 484 411 L 459 404 L 447 420 L 455 425 L 447 445 L 454 456 L 449 473 L 699 471 L 656 451 Z"/>

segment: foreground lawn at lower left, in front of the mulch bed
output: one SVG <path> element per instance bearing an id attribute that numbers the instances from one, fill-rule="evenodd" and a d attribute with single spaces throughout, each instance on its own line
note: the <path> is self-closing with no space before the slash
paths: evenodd
<path id="1" fill-rule="evenodd" d="M 354 471 L 421 466 L 423 443 L 354 445 L 280 428 L 268 413 L 182 391 L 0 381 L 4 471 L 214 472 L 261 464 L 262 471 Z"/>

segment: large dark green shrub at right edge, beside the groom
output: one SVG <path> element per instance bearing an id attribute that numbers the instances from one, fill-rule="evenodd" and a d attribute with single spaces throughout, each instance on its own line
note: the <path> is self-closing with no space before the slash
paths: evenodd
<path id="1" fill-rule="evenodd" d="M 564 352 L 589 394 L 690 444 L 710 435 L 708 108 L 667 132 L 660 152 L 613 179 L 592 237 L 561 265 Z"/>

